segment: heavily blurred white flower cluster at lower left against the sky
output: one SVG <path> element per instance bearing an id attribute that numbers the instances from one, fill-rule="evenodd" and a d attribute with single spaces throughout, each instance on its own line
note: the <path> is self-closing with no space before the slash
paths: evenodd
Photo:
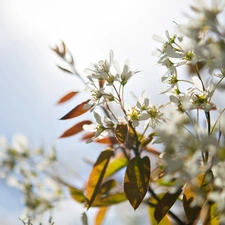
<path id="1" fill-rule="evenodd" d="M 62 187 L 51 177 L 56 160 L 55 150 L 45 155 L 42 149 L 30 150 L 26 137 L 14 135 L 10 145 L 0 137 L 1 178 L 24 193 L 29 213 L 41 213 L 53 207 L 62 195 Z M 55 175 L 54 175 L 55 176 Z"/>

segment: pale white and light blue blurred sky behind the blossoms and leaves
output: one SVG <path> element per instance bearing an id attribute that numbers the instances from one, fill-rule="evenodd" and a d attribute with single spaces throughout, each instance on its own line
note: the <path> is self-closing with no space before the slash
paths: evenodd
<path id="1" fill-rule="evenodd" d="M 71 120 L 60 121 L 59 118 L 85 99 L 78 95 L 68 103 L 56 105 L 63 95 L 82 91 L 84 87 L 76 77 L 57 68 L 56 64 L 62 63 L 51 48 L 63 40 L 81 74 L 89 63 L 108 59 L 112 49 L 121 64 L 129 58 L 131 68 L 142 71 L 129 82 L 128 95 L 132 91 L 139 96 L 146 90 L 153 103 L 163 103 L 166 99 L 159 93 L 165 90 L 160 83 L 165 68 L 157 66 L 157 58 L 152 56 L 160 46 L 152 35 L 164 37 L 165 30 L 173 33 L 176 26 L 173 21 L 186 23 L 188 19 L 184 14 L 190 11 L 191 2 L 1 0 L 0 135 L 10 142 L 15 133 L 22 133 L 31 147 L 55 146 L 62 163 L 87 179 L 91 168 L 82 158 L 88 156 L 95 161 L 102 146 L 80 142 L 79 135 L 58 138 L 74 125 Z M 0 193 L 1 224 L 22 224 L 18 220 L 23 212 L 22 195 L 16 188 L 7 186 L 5 180 L 0 180 Z M 125 206 L 127 210 L 119 213 Z M 120 221 L 118 225 L 131 224 L 131 221 L 136 224 L 143 213 L 141 209 L 134 213 L 128 204 L 115 208 L 105 224 L 114 224 L 115 215 Z M 83 206 L 67 200 L 53 213 L 53 219 L 58 225 L 79 225 L 83 211 Z M 92 216 L 92 211 L 89 215 Z"/>

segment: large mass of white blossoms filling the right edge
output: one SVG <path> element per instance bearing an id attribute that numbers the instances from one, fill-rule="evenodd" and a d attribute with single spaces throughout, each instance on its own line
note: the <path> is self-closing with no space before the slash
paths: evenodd
<path id="1" fill-rule="evenodd" d="M 225 27 L 219 20 L 224 7 L 222 1 L 212 1 L 211 5 L 196 1 L 192 7 L 196 17 L 190 18 L 187 25 L 179 25 L 177 34 L 170 36 L 166 31 L 166 40 L 153 37 L 163 43 L 157 50 L 158 63 L 167 68 L 162 81 L 169 87 L 163 93 L 170 95 L 170 102 L 179 112 L 171 113 L 166 123 L 157 128 L 155 142 L 165 145 L 160 156 L 166 174 L 162 179 L 168 183 L 175 176 L 171 190 L 183 186 L 184 195 L 188 196 L 190 190 L 195 192 L 191 206 L 211 204 L 210 213 L 221 224 L 225 221 L 222 172 L 225 133 L 221 125 L 224 122 L 219 121 L 224 120 L 221 116 L 224 109 L 219 110 L 212 98 L 224 79 Z M 183 65 L 191 68 L 190 79 L 178 76 L 177 68 Z M 188 88 L 182 82 L 189 84 Z M 212 110 L 219 115 L 214 123 Z"/>

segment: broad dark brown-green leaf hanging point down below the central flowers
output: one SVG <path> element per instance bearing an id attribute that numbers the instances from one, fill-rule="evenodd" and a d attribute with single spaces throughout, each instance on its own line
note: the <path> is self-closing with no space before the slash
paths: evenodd
<path id="1" fill-rule="evenodd" d="M 148 190 L 150 180 L 149 157 L 134 157 L 127 165 L 124 192 L 134 209 L 137 209 Z"/>

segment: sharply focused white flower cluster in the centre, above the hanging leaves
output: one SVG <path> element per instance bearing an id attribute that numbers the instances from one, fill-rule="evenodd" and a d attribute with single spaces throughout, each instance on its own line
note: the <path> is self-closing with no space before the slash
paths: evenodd
<path id="1" fill-rule="evenodd" d="M 87 90 L 91 93 L 91 100 L 84 106 L 84 109 L 91 108 L 94 110 L 94 117 L 97 122 L 94 125 L 83 126 L 84 130 L 95 134 L 87 143 L 109 136 L 110 133 L 113 133 L 116 125 L 121 123 L 129 123 L 136 128 L 139 126 L 140 121 L 145 121 L 146 128 L 155 128 L 157 124 L 165 120 L 164 113 L 161 110 L 162 106 L 151 104 L 145 91 L 139 98 L 133 94 L 136 101 L 134 107 L 125 103 L 123 99 L 124 86 L 139 71 L 130 70 L 129 60 L 125 61 L 123 69 L 121 69 L 119 63 L 113 57 L 114 53 L 111 50 L 109 62 L 100 60 L 98 63 L 91 64 L 90 69 L 85 70 L 88 74 L 89 83 L 87 84 Z M 123 117 L 116 115 L 111 107 L 112 103 L 120 108 L 124 114 Z M 96 106 L 103 107 L 109 111 L 107 116 L 104 116 L 104 122 L 100 113 L 96 111 Z"/>

